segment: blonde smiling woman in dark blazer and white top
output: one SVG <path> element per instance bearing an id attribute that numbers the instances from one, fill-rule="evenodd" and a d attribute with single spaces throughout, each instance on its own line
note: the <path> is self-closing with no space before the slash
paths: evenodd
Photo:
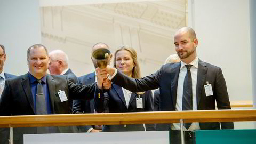
<path id="1" fill-rule="evenodd" d="M 129 46 L 121 46 L 115 52 L 114 67 L 122 73 L 133 78 L 140 78 L 140 67 L 137 61 L 136 51 Z M 138 99 L 138 100 L 137 100 Z M 142 101 L 142 105 L 137 102 Z M 110 91 L 104 94 L 104 98 L 95 99 L 95 110 L 98 113 L 127 113 L 154 111 L 151 90 L 132 93 L 124 88 L 111 84 Z M 146 130 L 155 130 L 155 124 L 146 124 Z M 103 132 L 114 131 L 145 131 L 143 124 L 104 125 Z"/>

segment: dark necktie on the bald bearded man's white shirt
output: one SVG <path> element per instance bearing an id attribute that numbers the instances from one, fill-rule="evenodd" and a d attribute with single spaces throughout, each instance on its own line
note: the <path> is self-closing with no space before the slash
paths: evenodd
<path id="1" fill-rule="evenodd" d="M 193 110 L 192 103 L 192 77 L 190 68 L 192 65 L 185 65 L 187 68 L 187 74 L 184 78 L 183 85 L 183 99 L 182 99 L 182 110 Z M 191 123 L 184 123 L 186 129 L 190 127 Z"/>

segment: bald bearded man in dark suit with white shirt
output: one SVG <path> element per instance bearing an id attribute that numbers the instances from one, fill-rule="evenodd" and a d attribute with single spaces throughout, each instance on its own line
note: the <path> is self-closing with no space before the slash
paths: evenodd
<path id="1" fill-rule="evenodd" d="M 97 71 L 99 74 L 107 71 L 111 75 L 110 81 L 132 92 L 159 87 L 160 111 L 188 110 L 188 107 L 191 110 L 214 110 L 215 101 L 218 109 L 231 109 L 221 69 L 198 59 L 197 44 L 195 31 L 192 28 L 183 27 L 174 35 L 175 50 L 181 62 L 163 65 L 156 73 L 140 79 L 127 77 L 110 66 L 106 69 L 97 69 Z M 109 84 L 103 83 L 103 86 L 107 85 Z M 190 139 L 190 136 L 191 133 L 194 135 L 194 130 L 220 129 L 220 123 L 190 123 L 188 127 L 186 124 L 183 127 L 187 131 L 185 139 L 191 143 L 194 139 Z M 171 134 L 179 137 L 180 125 L 178 123 L 166 125 L 166 129 L 171 129 Z M 221 129 L 234 129 L 234 124 L 233 122 L 221 122 Z M 174 140 L 179 143 L 179 140 Z"/>

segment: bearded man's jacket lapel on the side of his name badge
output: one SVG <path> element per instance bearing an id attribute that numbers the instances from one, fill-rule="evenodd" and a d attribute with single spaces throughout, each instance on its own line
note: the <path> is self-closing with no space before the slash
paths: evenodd
<path id="1" fill-rule="evenodd" d="M 198 61 L 198 71 L 197 71 L 197 84 L 196 84 L 196 101 L 197 101 L 197 108 L 200 103 L 201 93 L 204 87 L 204 82 L 207 74 L 207 65 L 203 61 L 199 59 Z"/>

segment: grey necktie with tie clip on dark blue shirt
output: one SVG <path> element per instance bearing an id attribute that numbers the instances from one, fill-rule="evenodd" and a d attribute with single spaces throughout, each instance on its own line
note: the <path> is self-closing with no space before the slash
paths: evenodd
<path id="1" fill-rule="evenodd" d="M 37 87 L 36 87 L 36 114 L 37 115 L 46 115 L 46 103 L 45 103 L 45 96 L 43 93 L 43 86 L 41 79 L 37 80 Z"/>

